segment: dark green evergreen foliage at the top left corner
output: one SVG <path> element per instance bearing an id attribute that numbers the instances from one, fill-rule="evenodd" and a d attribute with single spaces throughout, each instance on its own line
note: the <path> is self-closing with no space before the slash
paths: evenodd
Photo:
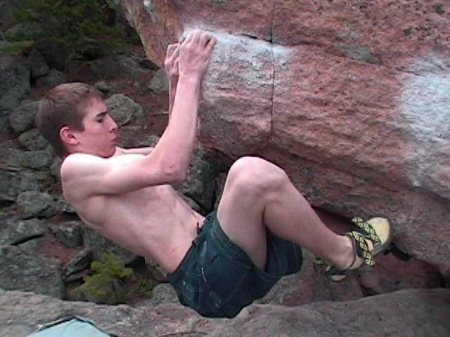
<path id="1" fill-rule="evenodd" d="M 115 25 L 105 0 L 23 0 L 12 9 L 16 22 L 37 27 L 9 35 L 13 41 L 56 44 L 67 59 L 91 59 L 124 48 L 124 27 Z"/>

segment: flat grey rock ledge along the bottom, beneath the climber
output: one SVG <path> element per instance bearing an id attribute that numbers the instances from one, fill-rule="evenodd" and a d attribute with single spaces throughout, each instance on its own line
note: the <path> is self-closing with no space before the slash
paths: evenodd
<path id="1" fill-rule="evenodd" d="M 449 336 L 450 291 L 406 290 L 349 302 L 301 307 L 251 305 L 234 319 L 206 319 L 180 305 L 156 308 L 70 303 L 20 291 L 0 291 L 0 336 L 26 336 L 61 317 L 91 319 L 127 336 Z"/>

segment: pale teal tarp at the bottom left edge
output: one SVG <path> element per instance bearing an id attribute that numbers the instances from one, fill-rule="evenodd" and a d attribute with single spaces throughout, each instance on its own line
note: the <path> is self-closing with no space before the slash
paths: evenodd
<path id="1" fill-rule="evenodd" d="M 110 335 L 97 329 L 93 323 L 75 317 L 46 324 L 27 337 L 110 337 Z"/>

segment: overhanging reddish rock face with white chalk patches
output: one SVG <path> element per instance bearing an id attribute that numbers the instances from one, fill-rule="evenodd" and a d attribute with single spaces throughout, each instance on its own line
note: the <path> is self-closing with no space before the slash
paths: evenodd
<path id="1" fill-rule="evenodd" d="M 450 277 L 448 1 L 121 4 L 160 65 L 190 29 L 217 37 L 203 145 L 271 159 L 328 211 L 390 216 L 397 247 Z"/>

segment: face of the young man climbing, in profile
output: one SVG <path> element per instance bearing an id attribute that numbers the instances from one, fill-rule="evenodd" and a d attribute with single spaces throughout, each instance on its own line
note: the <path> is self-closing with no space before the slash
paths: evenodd
<path id="1" fill-rule="evenodd" d="M 119 141 L 117 124 L 108 114 L 105 102 L 99 99 L 91 100 L 82 122 L 84 131 L 72 131 L 78 140 L 75 151 L 103 158 L 113 156 Z"/>

